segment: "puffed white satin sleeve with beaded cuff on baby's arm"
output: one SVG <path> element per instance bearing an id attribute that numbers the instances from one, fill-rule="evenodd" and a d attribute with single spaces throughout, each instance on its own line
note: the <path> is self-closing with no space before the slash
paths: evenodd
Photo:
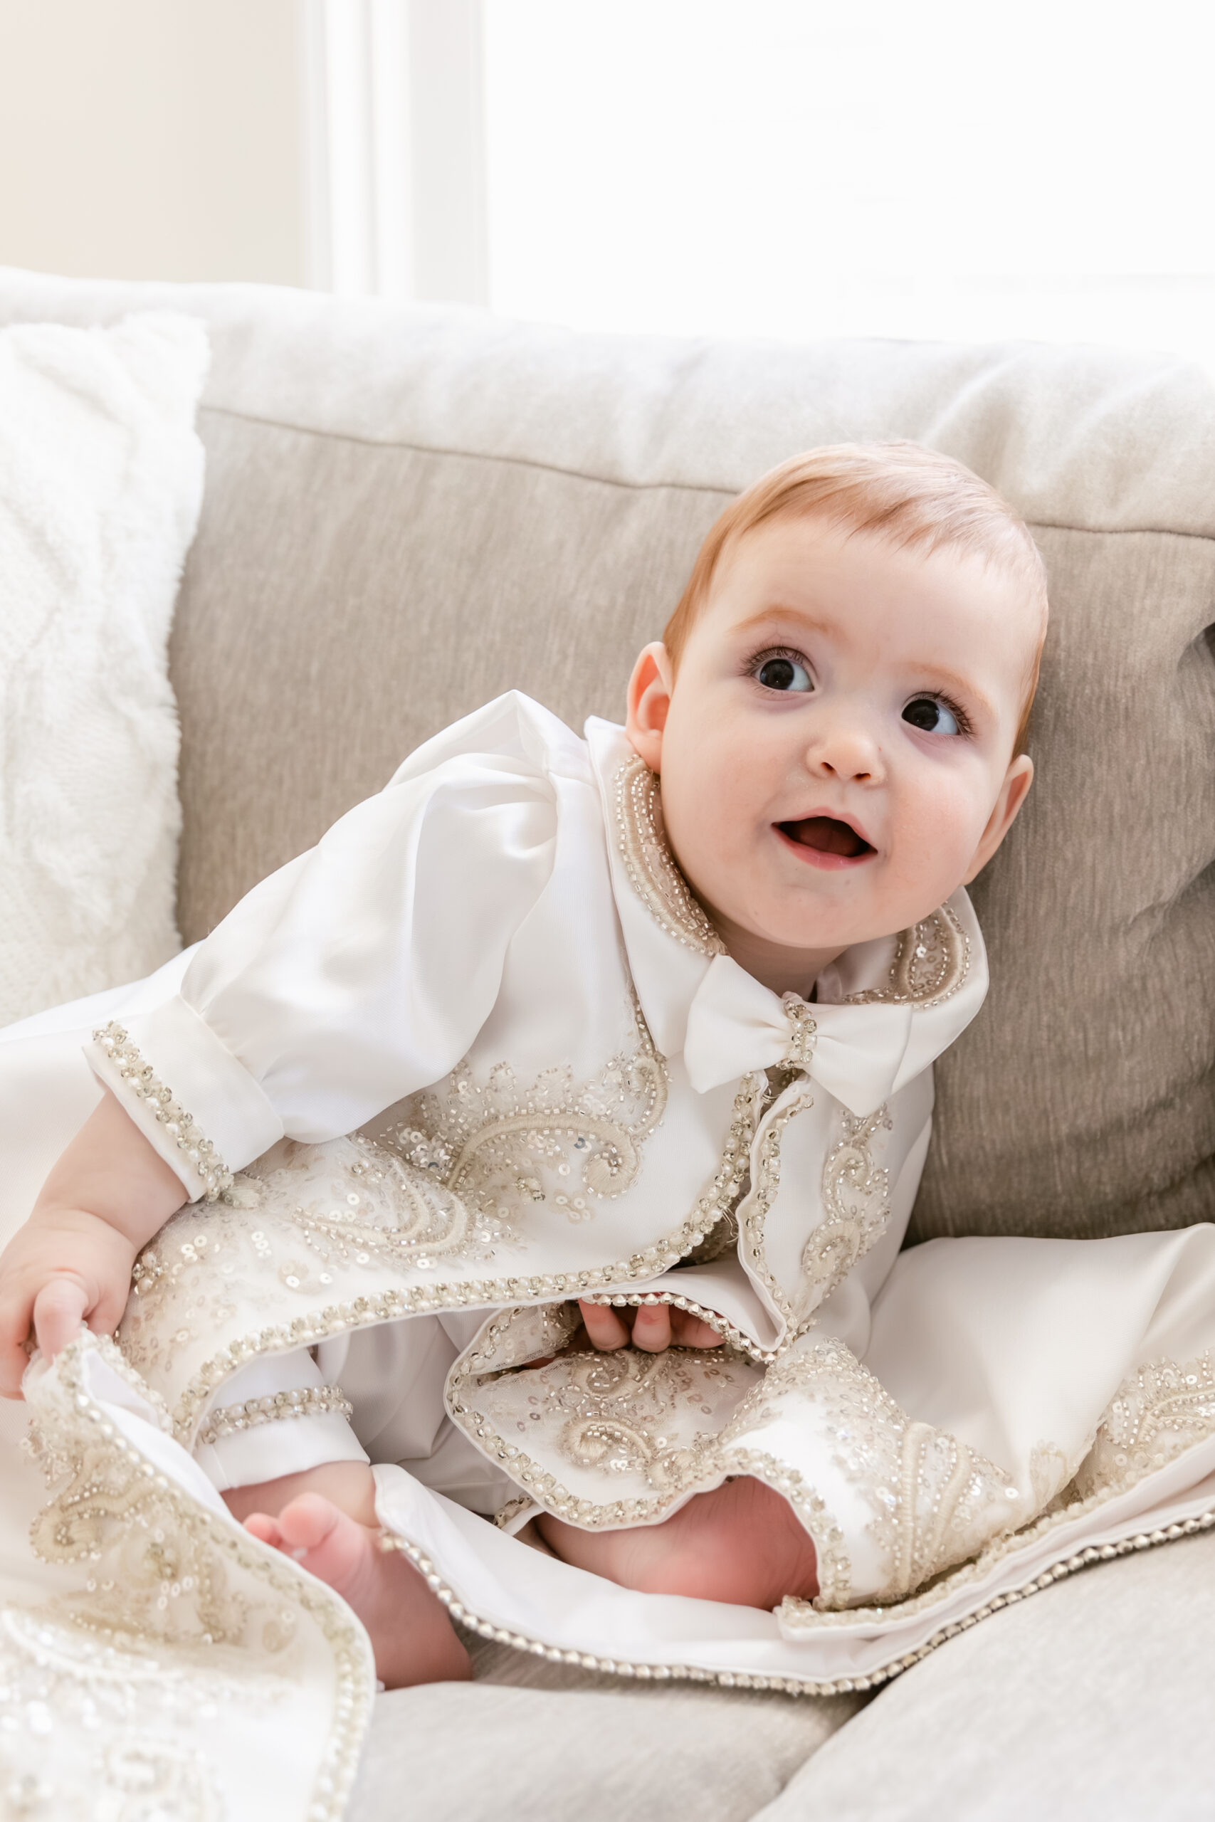
<path id="1" fill-rule="evenodd" d="M 552 871 L 563 765 L 583 765 L 576 736 L 501 696 L 242 898 L 177 993 L 95 1035 L 89 1062 L 191 1197 L 459 1062 Z"/>

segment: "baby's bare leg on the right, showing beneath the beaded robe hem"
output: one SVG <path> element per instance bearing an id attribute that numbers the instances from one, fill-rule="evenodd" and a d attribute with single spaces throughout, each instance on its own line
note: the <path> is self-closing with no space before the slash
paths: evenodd
<path id="1" fill-rule="evenodd" d="M 554 1556 L 643 1594 L 692 1594 L 738 1607 L 778 1607 L 818 1594 L 814 1543 L 787 1500 L 740 1476 L 699 1492 L 661 1525 L 577 1530 L 543 1512 Z"/>

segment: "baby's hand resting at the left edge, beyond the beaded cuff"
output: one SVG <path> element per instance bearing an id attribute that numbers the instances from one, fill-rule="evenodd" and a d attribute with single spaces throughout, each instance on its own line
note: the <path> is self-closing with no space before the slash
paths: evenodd
<path id="1" fill-rule="evenodd" d="M 0 1254 L 0 1394 L 22 1396 L 33 1330 L 47 1357 L 87 1321 L 97 1334 L 118 1326 L 131 1288 L 137 1246 L 100 1215 L 56 1208 L 27 1221 Z"/>

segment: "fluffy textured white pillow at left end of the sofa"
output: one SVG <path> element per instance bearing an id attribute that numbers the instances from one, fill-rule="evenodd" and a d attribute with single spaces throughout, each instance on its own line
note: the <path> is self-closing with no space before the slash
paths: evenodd
<path id="1" fill-rule="evenodd" d="M 180 947 L 168 634 L 206 366 L 160 312 L 0 333 L 0 1026 Z"/>

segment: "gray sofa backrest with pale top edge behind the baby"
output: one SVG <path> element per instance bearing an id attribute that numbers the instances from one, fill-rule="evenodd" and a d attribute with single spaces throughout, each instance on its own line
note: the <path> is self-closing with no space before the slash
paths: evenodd
<path id="1" fill-rule="evenodd" d="M 914 437 L 1051 576 L 1038 782 L 975 885 L 913 1237 L 1215 1215 L 1215 386 L 1093 348 L 583 337 L 242 286 L 0 273 L 0 321 L 202 315 L 202 527 L 171 670 L 180 927 L 506 687 L 619 716 L 705 528 L 772 463 Z"/>

